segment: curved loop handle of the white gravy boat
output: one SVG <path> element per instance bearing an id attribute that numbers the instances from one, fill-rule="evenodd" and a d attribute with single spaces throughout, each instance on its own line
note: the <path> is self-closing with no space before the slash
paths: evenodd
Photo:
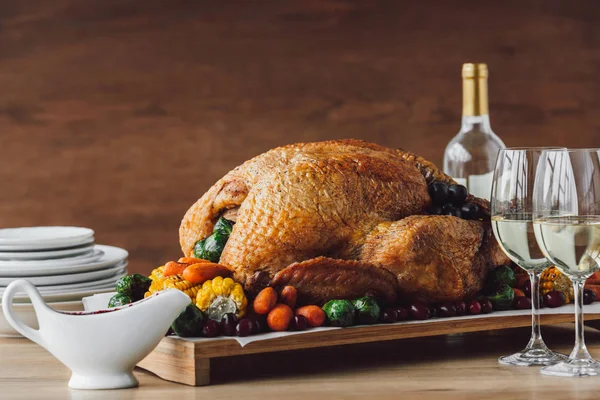
<path id="1" fill-rule="evenodd" d="M 4 313 L 4 318 L 6 318 L 8 323 L 11 324 L 12 327 L 15 328 L 15 330 L 21 335 L 43 346 L 43 339 L 42 335 L 40 334 L 40 330 L 33 329 L 16 318 L 12 301 L 15 297 L 15 294 L 19 291 L 24 291 L 31 299 L 31 304 L 35 310 L 36 318 L 40 311 L 45 311 L 45 309 L 48 308 L 36 287 L 24 279 L 19 279 L 11 282 L 2 296 L 2 312 Z"/>

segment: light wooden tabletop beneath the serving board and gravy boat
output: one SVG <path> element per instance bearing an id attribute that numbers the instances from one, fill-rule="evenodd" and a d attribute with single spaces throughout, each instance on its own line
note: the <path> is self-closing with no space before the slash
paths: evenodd
<path id="1" fill-rule="evenodd" d="M 544 328 L 552 348 L 568 352 L 572 325 Z M 213 384 L 189 387 L 141 370 L 136 389 L 80 391 L 69 371 L 25 339 L 0 339 L 1 399 L 592 399 L 598 378 L 552 378 L 538 368 L 502 367 L 498 356 L 522 347 L 528 329 L 407 339 L 218 359 Z M 600 332 L 588 328 L 600 358 Z"/>

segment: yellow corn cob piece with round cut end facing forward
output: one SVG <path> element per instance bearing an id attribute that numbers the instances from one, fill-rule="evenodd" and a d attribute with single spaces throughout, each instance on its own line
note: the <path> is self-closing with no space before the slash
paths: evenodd
<path id="1" fill-rule="evenodd" d="M 208 314 L 210 319 L 221 321 L 227 313 L 240 318 L 246 313 L 248 299 L 242 285 L 231 278 L 220 276 L 204 282 L 196 296 L 198 308 Z"/>

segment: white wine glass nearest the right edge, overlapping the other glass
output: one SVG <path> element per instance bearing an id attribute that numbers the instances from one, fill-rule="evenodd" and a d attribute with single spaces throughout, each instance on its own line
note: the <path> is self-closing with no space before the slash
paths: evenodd
<path id="1" fill-rule="evenodd" d="M 583 285 L 600 269 L 600 149 L 545 151 L 534 187 L 534 231 L 544 255 L 571 278 L 575 294 L 575 347 L 544 375 L 592 376 L 600 363 L 583 337 Z"/>

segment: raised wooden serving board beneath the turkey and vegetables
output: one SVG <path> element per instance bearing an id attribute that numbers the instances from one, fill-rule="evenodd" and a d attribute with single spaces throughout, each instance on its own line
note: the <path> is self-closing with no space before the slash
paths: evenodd
<path id="1" fill-rule="evenodd" d="M 575 317 L 572 313 L 567 313 L 544 314 L 541 318 L 544 324 L 557 324 L 573 322 Z M 585 320 L 586 322 L 600 320 L 600 313 L 586 313 Z M 204 386 L 210 384 L 210 362 L 218 357 L 518 328 L 530 324 L 530 314 L 507 316 L 489 314 L 316 332 L 308 330 L 303 334 L 255 341 L 243 347 L 233 338 L 189 341 L 177 337 L 165 337 L 154 351 L 138 364 L 138 367 L 168 381 Z"/>

